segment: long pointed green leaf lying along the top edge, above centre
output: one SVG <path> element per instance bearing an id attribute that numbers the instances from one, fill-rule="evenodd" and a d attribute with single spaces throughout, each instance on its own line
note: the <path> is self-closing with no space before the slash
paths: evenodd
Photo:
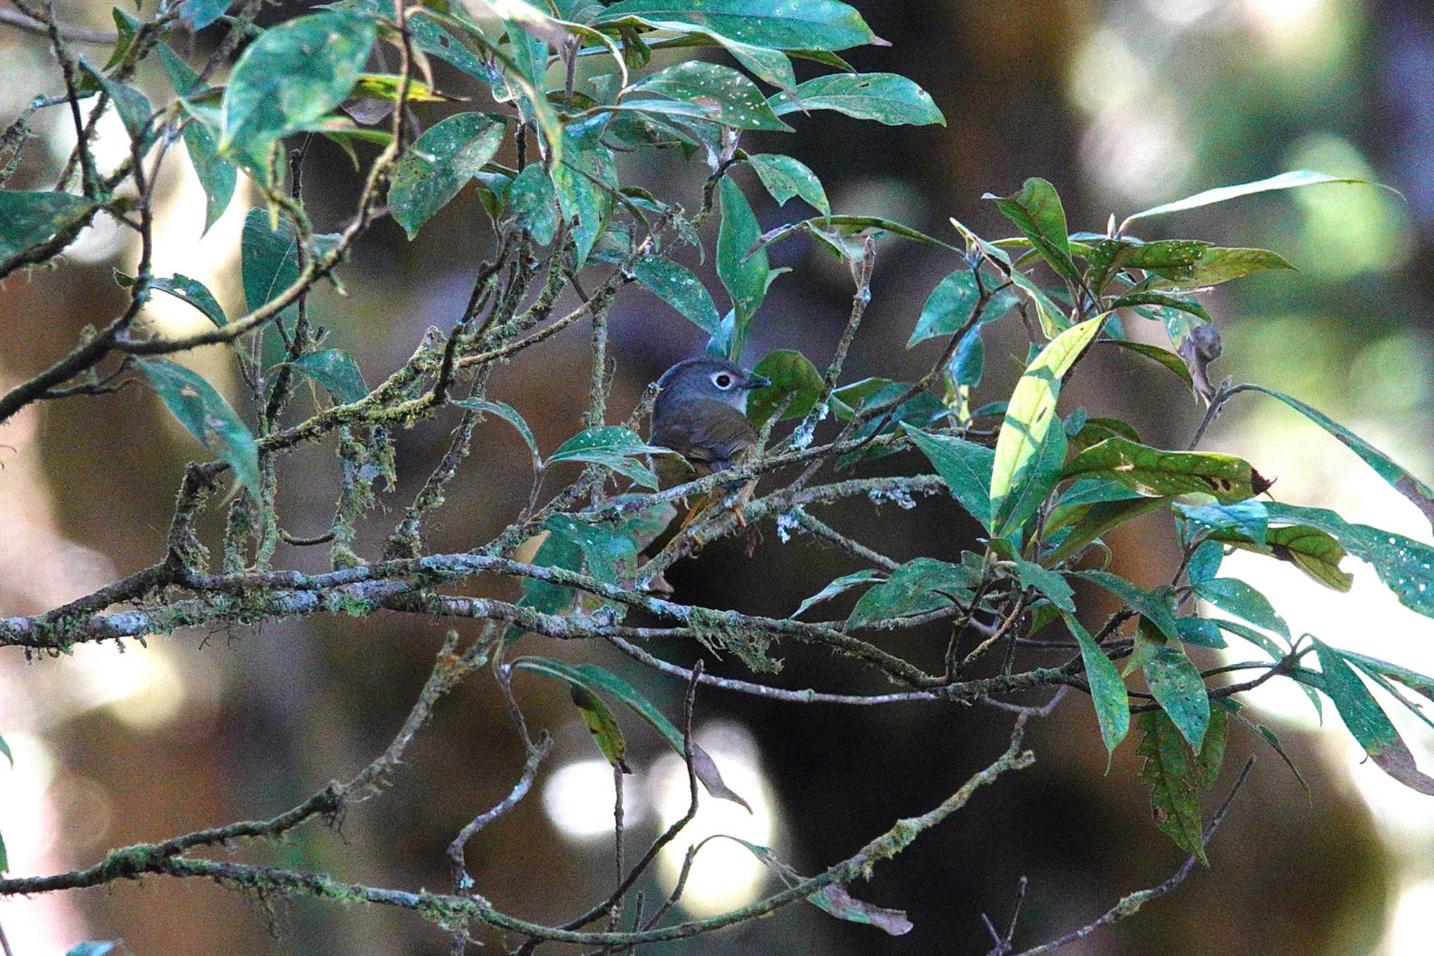
<path id="1" fill-rule="evenodd" d="M 777 50 L 845 50 L 876 39 L 862 14 L 836 0 L 621 0 L 594 24 L 625 17 L 688 23 Z"/>

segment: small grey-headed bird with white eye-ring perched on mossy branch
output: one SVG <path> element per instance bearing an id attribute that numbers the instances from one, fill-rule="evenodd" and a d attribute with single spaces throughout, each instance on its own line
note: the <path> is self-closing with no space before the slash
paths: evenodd
<path id="1" fill-rule="evenodd" d="M 747 419 L 747 396 L 771 381 L 724 358 L 688 358 L 657 380 L 652 404 L 651 444 L 671 449 L 673 454 L 655 457 L 663 487 L 673 487 L 698 477 L 726 472 L 741 462 L 757 444 L 757 430 Z M 655 555 L 681 533 L 717 496 L 706 494 L 691 502 L 648 548 Z M 737 520 L 741 520 L 740 506 Z"/>

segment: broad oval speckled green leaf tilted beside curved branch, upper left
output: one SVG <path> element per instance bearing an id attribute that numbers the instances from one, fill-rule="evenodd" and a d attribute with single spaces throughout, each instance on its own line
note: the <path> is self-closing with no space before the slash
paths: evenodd
<path id="1" fill-rule="evenodd" d="M 446 206 L 503 142 L 503 125 L 483 113 L 456 113 L 432 126 L 399 162 L 389 211 L 412 239 Z"/>

